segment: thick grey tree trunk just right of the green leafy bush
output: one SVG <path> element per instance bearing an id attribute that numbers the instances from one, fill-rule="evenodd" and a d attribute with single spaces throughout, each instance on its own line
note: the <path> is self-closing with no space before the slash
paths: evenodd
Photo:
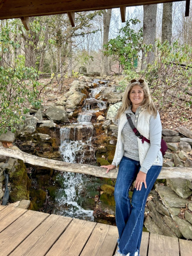
<path id="1" fill-rule="evenodd" d="M 147 57 L 142 54 L 141 69 L 145 69 L 148 63 L 155 60 L 156 16 L 157 4 L 143 6 L 143 44 L 152 44 L 154 49 L 147 53 Z"/>

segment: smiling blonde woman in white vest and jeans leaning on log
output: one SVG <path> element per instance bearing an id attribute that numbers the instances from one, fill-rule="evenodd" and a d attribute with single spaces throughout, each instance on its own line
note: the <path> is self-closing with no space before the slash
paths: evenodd
<path id="1" fill-rule="evenodd" d="M 141 135 L 133 132 L 126 114 Z M 116 225 L 118 251 L 115 256 L 138 256 L 141 244 L 145 204 L 163 165 L 161 149 L 162 125 L 160 116 L 151 101 L 148 85 L 142 79 L 132 80 L 126 87 L 122 106 L 116 115 L 118 137 L 111 165 L 103 165 L 106 173 L 119 164 L 115 185 Z M 130 204 L 129 189 L 135 181 Z"/>

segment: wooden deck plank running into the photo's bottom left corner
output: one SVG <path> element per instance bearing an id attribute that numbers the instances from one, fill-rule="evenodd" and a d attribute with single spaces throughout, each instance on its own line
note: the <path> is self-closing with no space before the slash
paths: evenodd
<path id="1" fill-rule="evenodd" d="M 1 255 L 10 254 L 50 214 L 27 211 L 0 233 Z"/>

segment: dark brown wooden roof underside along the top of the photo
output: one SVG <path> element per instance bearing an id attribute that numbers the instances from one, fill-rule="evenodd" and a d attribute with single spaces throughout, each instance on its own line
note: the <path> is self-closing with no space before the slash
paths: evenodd
<path id="1" fill-rule="evenodd" d="M 53 15 L 67 12 L 92 11 L 118 8 L 121 6 L 137 6 L 178 1 L 180 0 L 9 0 L 4 3 L 0 10 L 0 19 Z"/>

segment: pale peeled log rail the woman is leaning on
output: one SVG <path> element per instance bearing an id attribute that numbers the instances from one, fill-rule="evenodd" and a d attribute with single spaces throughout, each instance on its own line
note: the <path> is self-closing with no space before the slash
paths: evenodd
<path id="1" fill-rule="evenodd" d="M 117 178 L 116 170 L 111 170 L 106 173 L 106 169 L 98 166 L 93 166 L 89 164 L 73 164 L 66 163 L 57 160 L 47 159 L 43 157 L 38 157 L 34 155 L 30 155 L 23 151 L 16 151 L 10 148 L 4 148 L 0 146 L 0 155 L 8 156 L 12 158 L 21 159 L 24 163 L 28 163 L 31 165 L 44 166 L 47 168 L 52 168 L 54 170 L 58 170 L 61 172 L 76 172 L 89 174 L 96 177 L 103 178 Z M 192 168 L 190 167 L 163 167 L 161 173 L 158 176 L 158 179 L 172 179 L 172 178 L 180 178 L 192 180 Z"/>

